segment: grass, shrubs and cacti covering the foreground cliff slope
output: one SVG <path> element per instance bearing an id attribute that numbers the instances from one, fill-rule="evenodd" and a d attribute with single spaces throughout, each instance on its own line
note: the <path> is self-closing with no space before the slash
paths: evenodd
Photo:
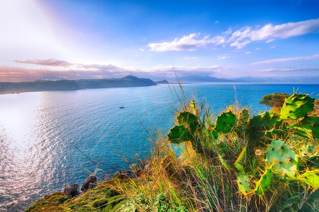
<path id="1" fill-rule="evenodd" d="M 151 157 L 132 166 L 136 177 L 115 177 L 63 203 L 56 193 L 28 211 L 46 201 L 59 210 L 45 211 L 319 211 L 314 98 L 294 93 L 257 115 L 238 104 L 215 115 L 181 99 L 167 136 L 150 137 Z M 121 201 L 108 206 L 104 191 Z"/>

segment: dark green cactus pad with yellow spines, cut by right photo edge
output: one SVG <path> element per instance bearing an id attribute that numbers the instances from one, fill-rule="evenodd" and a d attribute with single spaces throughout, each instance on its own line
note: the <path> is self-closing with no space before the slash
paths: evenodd
<path id="1" fill-rule="evenodd" d="M 319 139 L 319 117 L 304 117 L 299 123 L 290 127 L 295 132 L 305 138 Z"/>

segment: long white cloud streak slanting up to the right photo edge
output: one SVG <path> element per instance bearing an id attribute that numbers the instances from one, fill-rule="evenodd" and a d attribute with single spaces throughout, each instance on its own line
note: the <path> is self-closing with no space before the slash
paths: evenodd
<path id="1" fill-rule="evenodd" d="M 251 26 L 244 26 L 235 32 L 232 32 L 231 28 L 229 28 L 221 36 L 212 38 L 210 36 L 201 37 L 200 33 L 194 33 L 175 38 L 173 41 L 149 43 L 146 47 L 149 48 L 149 51 L 195 51 L 208 45 L 229 45 L 230 47 L 241 49 L 255 41 L 270 43 L 275 39 L 285 39 L 318 32 L 319 18 L 278 25 L 269 23 L 255 29 Z"/>

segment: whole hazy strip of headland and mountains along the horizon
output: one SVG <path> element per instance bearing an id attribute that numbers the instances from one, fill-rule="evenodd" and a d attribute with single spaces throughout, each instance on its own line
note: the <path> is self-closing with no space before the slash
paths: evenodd
<path id="1" fill-rule="evenodd" d="M 319 83 L 319 76 L 314 77 L 237 77 L 217 78 L 211 76 L 182 76 L 181 83 Z M 111 79 L 80 79 L 80 80 L 36 80 L 31 82 L 0 82 L 0 94 L 39 92 L 47 90 L 76 90 L 108 87 L 139 87 L 157 84 L 177 83 L 173 81 L 152 81 L 147 78 L 125 76 Z"/>

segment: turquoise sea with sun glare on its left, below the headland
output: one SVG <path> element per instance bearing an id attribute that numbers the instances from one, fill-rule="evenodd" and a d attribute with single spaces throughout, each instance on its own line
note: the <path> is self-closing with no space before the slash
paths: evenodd
<path id="1" fill-rule="evenodd" d="M 258 104 L 263 95 L 294 87 L 319 93 L 318 84 L 237 84 L 236 98 L 257 112 L 265 109 Z M 232 84 L 184 89 L 218 112 L 235 100 Z M 97 163 L 108 174 L 128 168 L 116 152 L 129 163 L 147 157 L 151 143 L 141 122 L 165 132 L 178 105 L 168 85 L 0 96 L 0 211 L 21 211 L 63 184 L 81 184 L 88 176 L 84 168 L 94 171 Z"/>

